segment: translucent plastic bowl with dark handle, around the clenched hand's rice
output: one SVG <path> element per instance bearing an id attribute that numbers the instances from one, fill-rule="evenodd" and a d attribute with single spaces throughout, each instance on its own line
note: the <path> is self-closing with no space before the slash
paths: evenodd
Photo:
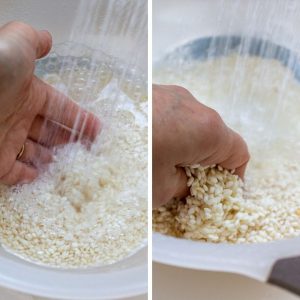
<path id="1" fill-rule="evenodd" d="M 300 61 L 294 51 L 256 37 L 247 37 L 245 43 L 237 35 L 192 40 L 160 58 L 155 66 L 175 64 L 180 67 L 182 61 L 204 61 L 208 57 L 227 56 L 231 53 L 275 59 L 290 68 L 294 77 L 300 81 Z M 190 269 L 233 272 L 267 281 L 278 260 L 299 256 L 299 246 L 300 237 L 268 243 L 215 244 L 153 233 L 153 260 Z"/>

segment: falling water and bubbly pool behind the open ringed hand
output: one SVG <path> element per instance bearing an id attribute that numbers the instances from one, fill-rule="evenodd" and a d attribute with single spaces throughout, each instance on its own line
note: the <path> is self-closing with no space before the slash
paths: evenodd
<path id="1" fill-rule="evenodd" d="M 107 129 L 100 138 L 105 138 L 120 94 L 135 101 L 147 97 L 146 53 L 147 1 L 82 0 L 69 41 L 55 45 L 38 62 L 36 73 L 81 107 L 96 110 Z M 68 114 L 63 107 L 60 111 Z M 73 128 L 77 131 L 78 119 Z M 48 139 L 55 139 L 56 134 L 51 132 Z M 74 139 L 75 134 L 70 142 Z"/>

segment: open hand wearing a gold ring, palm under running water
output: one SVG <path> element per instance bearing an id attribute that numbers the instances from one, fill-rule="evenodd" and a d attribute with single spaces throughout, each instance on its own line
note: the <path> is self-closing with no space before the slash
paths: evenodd
<path id="1" fill-rule="evenodd" d="M 29 183 L 52 160 L 53 146 L 79 138 L 92 142 L 100 121 L 34 76 L 48 54 L 49 32 L 11 22 L 0 27 L 0 183 Z M 22 145 L 25 150 L 17 159 Z"/>

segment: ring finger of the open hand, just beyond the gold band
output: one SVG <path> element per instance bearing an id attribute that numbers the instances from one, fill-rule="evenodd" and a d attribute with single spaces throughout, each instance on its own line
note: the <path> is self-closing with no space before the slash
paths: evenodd
<path id="1" fill-rule="evenodd" d="M 20 157 L 19 161 L 31 163 L 34 166 L 38 166 L 40 163 L 50 163 L 52 161 L 51 151 L 46 147 L 43 147 L 29 139 L 25 142 L 24 146 L 24 153 Z"/>

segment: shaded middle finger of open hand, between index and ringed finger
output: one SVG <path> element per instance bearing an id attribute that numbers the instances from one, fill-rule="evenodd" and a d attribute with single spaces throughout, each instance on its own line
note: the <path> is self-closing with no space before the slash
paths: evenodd
<path id="1" fill-rule="evenodd" d="M 76 141 L 78 133 L 37 116 L 31 125 L 28 137 L 46 147 L 53 147 Z"/>

